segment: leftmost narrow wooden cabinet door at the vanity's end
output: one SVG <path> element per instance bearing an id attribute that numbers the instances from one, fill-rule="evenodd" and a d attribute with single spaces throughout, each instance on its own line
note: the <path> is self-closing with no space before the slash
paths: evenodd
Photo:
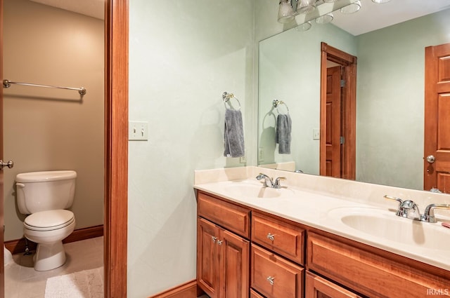
<path id="1" fill-rule="evenodd" d="M 211 298 L 219 297 L 219 228 L 197 219 L 197 282 Z"/>

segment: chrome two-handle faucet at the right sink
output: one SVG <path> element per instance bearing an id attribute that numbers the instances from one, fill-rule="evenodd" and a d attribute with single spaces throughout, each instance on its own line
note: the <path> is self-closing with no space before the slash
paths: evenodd
<path id="1" fill-rule="evenodd" d="M 394 198 L 393 196 L 387 196 L 385 195 L 385 198 L 388 198 L 390 200 L 394 200 L 399 202 L 399 208 L 395 215 L 399 217 L 406 217 L 410 219 L 420 220 L 421 222 L 431 222 L 435 223 L 437 222 L 437 219 L 435 217 L 435 209 L 441 208 L 441 209 L 450 209 L 450 204 L 430 204 L 425 208 L 425 212 L 423 212 L 423 215 L 420 214 L 418 205 L 414 203 L 411 200 L 401 200 L 401 198 Z M 412 217 L 409 214 L 409 211 L 413 210 L 416 212 L 416 217 Z"/>

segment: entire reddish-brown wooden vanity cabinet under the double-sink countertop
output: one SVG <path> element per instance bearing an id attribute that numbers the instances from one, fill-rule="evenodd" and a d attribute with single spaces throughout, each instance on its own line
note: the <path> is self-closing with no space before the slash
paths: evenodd
<path id="1" fill-rule="evenodd" d="M 450 298 L 449 271 L 202 191 L 197 245 L 211 298 Z"/>

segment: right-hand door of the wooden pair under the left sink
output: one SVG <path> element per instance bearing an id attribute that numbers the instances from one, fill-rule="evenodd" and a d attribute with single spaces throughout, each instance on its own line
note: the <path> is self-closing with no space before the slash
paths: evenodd
<path id="1" fill-rule="evenodd" d="M 248 298 L 250 242 L 221 230 L 221 289 L 224 298 Z"/>

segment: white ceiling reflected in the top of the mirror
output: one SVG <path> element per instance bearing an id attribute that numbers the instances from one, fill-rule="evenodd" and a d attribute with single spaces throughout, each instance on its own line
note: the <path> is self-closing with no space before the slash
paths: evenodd
<path id="1" fill-rule="evenodd" d="M 356 36 L 446 8 L 450 8 L 450 0 L 391 0 L 385 4 L 361 0 L 357 13 L 334 12 L 333 25 Z"/>

